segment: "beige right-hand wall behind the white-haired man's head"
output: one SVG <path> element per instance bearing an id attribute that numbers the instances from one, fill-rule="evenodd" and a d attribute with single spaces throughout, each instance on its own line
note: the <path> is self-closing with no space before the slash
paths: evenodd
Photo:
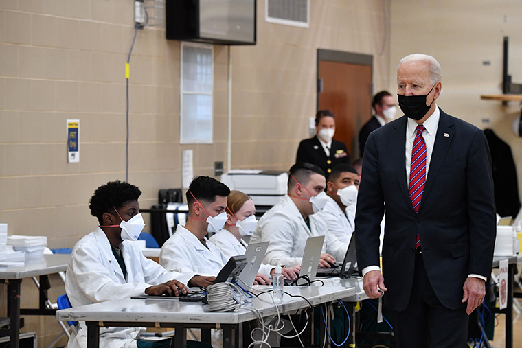
<path id="1" fill-rule="evenodd" d="M 512 132 L 520 105 L 480 99 L 502 93 L 503 36 L 510 37 L 509 72 L 522 83 L 522 3 L 503 0 L 391 1 L 389 89 L 396 91 L 396 67 L 412 53 L 430 54 L 442 66 L 446 113 L 491 128 L 511 146 L 522 188 L 522 138 Z M 490 65 L 484 65 L 488 61 Z M 483 121 L 483 120 L 486 120 Z M 487 122 L 488 120 L 488 122 Z"/>

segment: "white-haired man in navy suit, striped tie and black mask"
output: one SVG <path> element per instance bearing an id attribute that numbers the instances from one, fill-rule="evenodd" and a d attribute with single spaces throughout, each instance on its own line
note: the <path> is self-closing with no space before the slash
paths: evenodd
<path id="1" fill-rule="evenodd" d="M 398 347 L 465 347 L 466 314 L 484 299 L 492 268 L 488 144 L 479 128 L 436 106 L 441 79 L 435 58 L 402 58 L 398 102 L 405 116 L 372 132 L 365 148 L 357 260 L 366 294 L 385 292 Z"/>

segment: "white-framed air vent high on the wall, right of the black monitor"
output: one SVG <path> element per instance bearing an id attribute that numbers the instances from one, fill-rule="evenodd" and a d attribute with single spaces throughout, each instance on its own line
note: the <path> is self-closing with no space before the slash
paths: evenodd
<path id="1" fill-rule="evenodd" d="M 266 0 L 266 21 L 308 27 L 310 25 L 310 0 Z"/>

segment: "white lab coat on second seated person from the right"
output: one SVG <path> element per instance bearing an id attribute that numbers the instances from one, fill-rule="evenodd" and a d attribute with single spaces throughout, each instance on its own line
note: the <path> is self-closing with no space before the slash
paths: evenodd
<path id="1" fill-rule="evenodd" d="M 328 233 L 326 224 L 319 216 L 310 215 L 310 229 L 303 216 L 288 195 L 266 211 L 260 218 L 251 243 L 270 241 L 263 262 L 277 264 L 277 259 L 287 267 L 300 265 L 308 237 L 324 235 L 323 253 L 329 253 L 337 261 L 344 259 L 348 244 L 340 242 Z"/>

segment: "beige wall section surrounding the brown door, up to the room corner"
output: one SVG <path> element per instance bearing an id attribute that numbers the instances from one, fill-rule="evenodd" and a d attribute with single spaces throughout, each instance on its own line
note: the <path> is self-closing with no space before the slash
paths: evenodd
<path id="1" fill-rule="evenodd" d="M 266 23 L 258 1 L 258 44 L 232 47 L 232 167 L 294 163 L 317 111 L 317 49 L 372 54 L 375 90 L 389 84 L 388 1 L 310 1 L 310 8 L 303 29 Z"/>

